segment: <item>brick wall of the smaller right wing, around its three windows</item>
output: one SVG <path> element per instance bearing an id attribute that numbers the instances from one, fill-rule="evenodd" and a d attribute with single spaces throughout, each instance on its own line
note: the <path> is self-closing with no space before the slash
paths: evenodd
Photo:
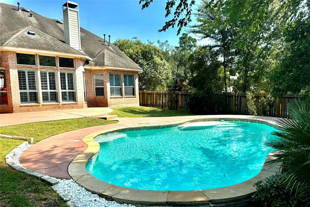
<path id="1" fill-rule="evenodd" d="M 86 85 L 86 101 L 87 107 L 117 107 L 117 106 L 139 106 L 139 88 L 138 88 L 138 72 L 121 71 L 109 69 L 84 69 L 85 85 Z M 103 73 L 104 77 L 104 97 L 95 97 L 94 73 Z M 122 97 L 110 96 L 110 79 L 109 73 L 117 73 L 122 76 L 122 92 L 124 91 L 123 74 L 133 74 L 135 76 L 135 96 Z"/>

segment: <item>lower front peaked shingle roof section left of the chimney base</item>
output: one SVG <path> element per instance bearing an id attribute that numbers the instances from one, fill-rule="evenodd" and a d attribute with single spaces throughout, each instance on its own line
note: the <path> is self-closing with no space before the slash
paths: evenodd
<path id="1" fill-rule="evenodd" d="M 35 35 L 28 34 L 29 31 L 35 32 Z M 8 36 L 10 37 L 7 39 Z M 15 34 L 14 32 L 11 32 L 8 35 L 4 35 L 3 38 L 0 38 L 0 44 L 10 47 L 61 51 L 70 54 L 85 55 L 82 52 L 70 47 L 69 45 L 58 41 L 55 38 L 31 26 L 19 29 Z"/>

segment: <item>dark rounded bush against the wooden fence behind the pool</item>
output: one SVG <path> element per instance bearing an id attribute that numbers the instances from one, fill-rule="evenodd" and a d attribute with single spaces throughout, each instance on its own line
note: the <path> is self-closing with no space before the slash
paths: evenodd
<path id="1" fill-rule="evenodd" d="M 196 91 L 188 98 L 190 112 L 198 115 L 215 114 L 223 102 L 221 94 L 212 90 Z"/>

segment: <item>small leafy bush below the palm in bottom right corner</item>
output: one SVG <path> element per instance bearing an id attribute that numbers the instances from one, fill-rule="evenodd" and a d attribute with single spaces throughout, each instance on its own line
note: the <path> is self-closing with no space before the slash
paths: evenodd
<path id="1" fill-rule="evenodd" d="M 257 192 L 252 196 L 255 207 L 301 207 L 305 203 L 298 197 L 290 195 L 290 190 L 283 185 L 283 177 L 280 174 L 255 183 Z"/>

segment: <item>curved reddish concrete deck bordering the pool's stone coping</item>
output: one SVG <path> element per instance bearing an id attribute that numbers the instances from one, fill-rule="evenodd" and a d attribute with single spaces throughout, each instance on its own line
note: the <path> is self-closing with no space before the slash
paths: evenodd
<path id="1" fill-rule="evenodd" d="M 27 169 L 35 172 L 50 175 L 57 178 L 70 179 L 68 166 L 70 162 L 80 153 L 87 145 L 82 138 L 92 132 L 124 126 L 145 126 L 152 124 L 165 124 L 175 121 L 181 121 L 191 118 L 254 118 L 277 122 L 279 118 L 263 116 L 245 116 L 245 115 L 205 115 L 205 116 L 179 116 L 179 117 L 145 117 L 145 118 L 117 118 L 117 124 L 109 124 L 96 127 L 78 129 L 71 132 L 65 132 L 59 135 L 51 136 L 42 140 L 20 157 L 20 163 Z M 73 141 L 74 140 L 74 141 Z M 77 140 L 77 141 L 76 141 Z"/>

